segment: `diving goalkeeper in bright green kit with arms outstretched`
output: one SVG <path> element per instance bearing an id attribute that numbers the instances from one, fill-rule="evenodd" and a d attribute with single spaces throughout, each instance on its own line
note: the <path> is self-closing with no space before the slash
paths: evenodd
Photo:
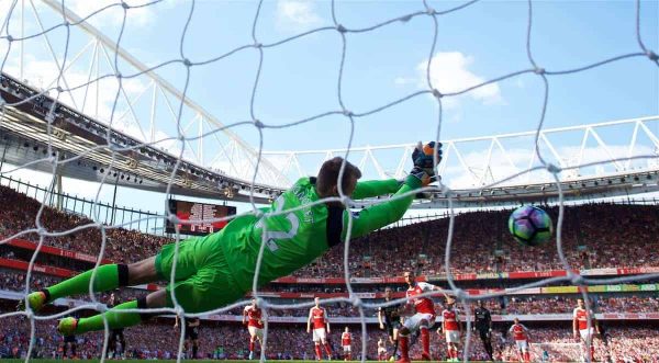
<path id="1" fill-rule="evenodd" d="M 317 177 L 301 178 L 269 208 L 257 217 L 236 217 L 222 230 L 179 242 L 175 265 L 175 243 L 163 246 L 157 256 L 131 264 L 104 264 L 97 269 L 93 292 L 120 286 L 133 286 L 155 281 L 175 282 L 166 288 L 113 307 L 88 318 L 64 318 L 57 330 L 64 336 L 103 330 L 103 317 L 110 330 L 137 325 L 154 316 L 120 311 L 174 307 L 171 293 L 186 313 L 204 313 L 230 304 L 252 290 L 261 243 L 264 254 L 258 273 L 258 286 L 287 276 L 314 261 L 328 249 L 342 243 L 347 234 L 350 211 L 340 202 L 311 205 L 327 197 L 339 196 L 338 177 L 345 162 L 342 191 L 354 200 L 393 194 L 353 215 L 351 238 L 365 236 L 399 220 L 407 211 L 415 193 L 435 178 L 435 161 L 442 159 L 442 144 L 426 144 L 412 154 L 414 167 L 403 181 L 395 179 L 358 182 L 361 171 L 347 160 L 336 157 L 323 163 Z M 401 196 L 406 194 L 405 196 Z M 294 209 L 290 213 L 286 211 Z M 268 212 L 283 212 L 268 216 Z M 93 270 L 63 281 L 54 286 L 27 295 L 30 307 L 38 311 L 46 304 L 65 296 L 89 292 Z"/>

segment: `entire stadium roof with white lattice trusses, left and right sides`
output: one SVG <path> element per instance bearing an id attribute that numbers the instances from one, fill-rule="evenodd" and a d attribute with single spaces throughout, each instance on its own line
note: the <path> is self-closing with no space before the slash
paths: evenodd
<path id="1" fill-rule="evenodd" d="M 75 29 L 82 31 L 77 33 L 85 33 L 88 36 L 81 38 L 82 42 L 71 42 L 76 44 L 71 46 L 71 57 L 68 59 L 67 67 L 60 68 L 57 65 L 59 75 L 56 79 L 62 78 L 63 82 L 67 83 L 66 77 L 70 77 L 67 71 L 80 66 L 85 59 L 89 60 L 87 67 L 83 67 L 89 69 L 89 79 L 87 83 L 66 90 L 51 87 L 54 86 L 52 83 L 47 88 L 57 91 L 57 97 L 53 98 L 45 91 L 27 86 L 27 81 L 4 73 L 1 76 L 0 102 L 12 104 L 2 109 L 0 122 L 3 134 L 0 143 L 4 146 L 3 159 L 10 163 L 53 172 L 53 165 L 47 162 L 51 157 L 47 155 L 51 145 L 60 159 L 70 160 L 62 163 L 57 170 L 65 177 L 97 182 L 104 180 L 107 183 L 157 192 L 167 191 L 171 180 L 170 192 L 175 194 L 246 202 L 249 200 L 252 178 L 257 167 L 258 156 L 254 194 L 255 202 L 265 203 L 290 186 L 290 181 L 314 173 L 323 160 L 335 155 L 343 156 L 348 151 L 333 149 L 263 151 L 261 154 L 233 134 L 201 105 L 194 103 L 190 97 L 185 97 L 185 92 L 119 46 L 119 42 L 92 26 L 90 22 L 62 3 L 52 0 L 44 0 L 44 3 L 46 7 L 35 11 L 35 20 L 43 32 L 43 34 L 38 33 L 41 35 L 35 36 L 35 39 L 45 42 L 51 53 L 53 53 L 52 42 L 45 36 L 49 31 L 42 25 L 42 16 L 46 15 L 42 12 L 45 12 L 45 9 L 54 11 L 54 14 L 57 14 L 56 19 L 62 15 L 68 22 L 76 24 Z M 23 22 L 23 16 L 20 18 Z M 21 38 L 25 36 L 22 27 L 20 34 Z M 69 42 L 66 44 L 68 47 Z M 72 52 L 78 45 L 82 45 L 79 52 Z M 23 63 L 29 61 L 23 57 L 23 46 L 29 45 L 21 41 L 21 76 Z M 27 53 L 35 52 L 30 47 L 26 49 Z M 91 57 L 87 57 L 90 53 Z M 109 54 L 112 53 L 115 56 L 114 63 L 110 61 Z M 57 63 L 55 53 L 52 55 Z M 100 55 L 105 56 L 111 68 L 102 77 L 100 75 L 104 70 L 101 70 Z M 120 60 L 124 76 L 119 71 Z M 96 79 L 92 77 L 92 69 L 96 69 Z M 99 115 L 98 110 L 92 117 L 90 114 L 93 112 L 85 105 L 90 83 L 96 84 L 98 98 L 98 90 L 105 86 L 103 81 L 107 78 L 118 81 L 121 77 L 124 80 L 144 77 L 148 81 L 145 84 L 148 86 L 133 97 L 126 95 L 125 90 L 122 90 L 125 99 L 122 99 L 122 102 L 118 102 L 120 99 L 118 93 L 113 105 L 118 107 L 116 113 L 113 113 L 114 117 Z M 68 88 L 68 84 L 65 86 Z M 75 91 L 85 93 L 81 107 L 76 104 L 76 97 L 72 94 Z M 150 102 L 146 100 L 149 99 L 148 97 L 142 98 L 148 92 L 153 92 Z M 178 114 L 172 111 L 169 98 L 180 103 L 182 111 Z M 55 102 L 55 99 L 58 102 Z M 96 102 L 98 109 L 99 100 Z M 163 110 L 156 112 L 158 104 Z M 124 109 L 121 109 L 122 106 Z M 141 110 L 149 111 L 147 117 L 136 115 Z M 188 116 L 190 121 L 187 120 Z M 133 124 L 129 124 L 127 120 L 131 117 Z M 183 117 L 187 125 L 183 125 Z M 143 129 L 137 118 L 142 118 L 143 122 L 148 120 L 150 129 Z M 171 118 L 175 123 L 167 124 L 166 118 Z M 124 127 L 120 125 L 122 123 Z M 160 129 L 160 127 L 171 128 L 174 124 L 176 124 L 176 132 L 169 129 L 167 134 Z M 605 133 L 619 133 L 619 128 L 615 128 L 617 126 L 625 127 L 629 133 L 628 145 L 606 143 Z M 659 138 L 652 132 L 658 129 L 655 126 L 659 127 L 658 116 L 543 128 L 537 134 L 526 132 L 443 140 L 445 154 L 439 173 L 447 186 L 453 190 L 450 195 L 454 197 L 455 206 L 556 198 L 558 185 L 554 175 L 540 169 L 537 169 L 538 172 L 533 177 L 528 172 L 539 165 L 536 149 L 533 148 L 537 145 L 538 154 L 541 151 L 547 162 L 561 170 L 559 174 L 561 189 L 567 198 L 655 192 L 658 189 L 657 172 L 659 171 Z M 171 136 L 182 136 L 190 127 L 198 129 L 199 134 L 185 139 Z M 604 128 L 610 129 L 604 131 Z M 185 150 L 158 145 L 163 139 L 156 137 L 157 132 L 167 134 L 172 144 L 185 143 Z M 570 136 L 570 133 L 577 135 L 576 145 L 561 140 L 574 136 Z M 534 141 L 536 135 L 538 139 Z M 220 136 L 224 138 L 220 139 Z M 197 150 L 191 141 L 197 144 Z M 595 147 L 589 146 L 589 141 L 594 141 Z M 203 152 L 209 148 L 214 156 L 212 160 L 208 158 L 209 152 L 205 155 Z M 367 146 L 354 147 L 349 152 L 350 160 L 359 159 L 356 163 L 365 171 L 365 179 L 403 178 L 409 168 L 412 148 L 413 145 L 410 144 Z M 621 149 L 624 151 L 621 152 Z M 177 163 L 179 166 L 172 179 L 174 167 Z M 584 163 L 590 163 L 590 167 L 582 167 Z M 510 175 L 516 177 L 510 178 Z M 421 198 L 415 207 L 435 208 L 448 205 L 445 193 L 431 193 L 425 196 L 427 197 Z"/>

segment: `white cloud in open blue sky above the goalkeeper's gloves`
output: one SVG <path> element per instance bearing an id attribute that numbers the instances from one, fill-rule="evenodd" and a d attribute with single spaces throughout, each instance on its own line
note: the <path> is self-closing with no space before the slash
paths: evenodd
<path id="1" fill-rule="evenodd" d="M 428 61 L 425 60 L 416 66 L 418 84 L 422 87 L 426 87 L 427 64 Z M 471 64 L 473 64 L 473 57 L 466 56 L 460 52 L 437 53 L 431 59 L 431 81 L 442 93 L 462 91 L 484 82 L 484 78 L 469 70 Z M 479 87 L 466 93 L 465 97 L 469 97 L 485 105 L 503 102 L 501 89 L 496 83 Z M 443 101 L 445 101 L 445 106 L 447 107 L 459 105 L 459 99 L 455 97 L 445 98 Z"/>

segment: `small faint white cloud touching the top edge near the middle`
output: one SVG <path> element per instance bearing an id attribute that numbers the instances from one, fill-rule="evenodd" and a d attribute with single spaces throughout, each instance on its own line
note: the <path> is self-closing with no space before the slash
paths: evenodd
<path id="1" fill-rule="evenodd" d="M 276 13 L 277 27 L 282 31 L 305 31 L 321 24 L 311 0 L 279 0 Z"/>

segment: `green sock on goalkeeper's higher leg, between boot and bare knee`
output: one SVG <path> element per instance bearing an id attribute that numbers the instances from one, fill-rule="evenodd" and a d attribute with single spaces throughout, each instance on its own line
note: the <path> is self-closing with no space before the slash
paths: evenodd
<path id="1" fill-rule="evenodd" d="M 77 276 L 65 280 L 44 292 L 48 302 L 57 298 L 89 293 L 89 282 L 93 270 L 83 272 Z M 97 269 L 93 281 L 93 291 L 103 292 L 129 284 L 129 266 L 125 264 L 104 264 Z"/>

